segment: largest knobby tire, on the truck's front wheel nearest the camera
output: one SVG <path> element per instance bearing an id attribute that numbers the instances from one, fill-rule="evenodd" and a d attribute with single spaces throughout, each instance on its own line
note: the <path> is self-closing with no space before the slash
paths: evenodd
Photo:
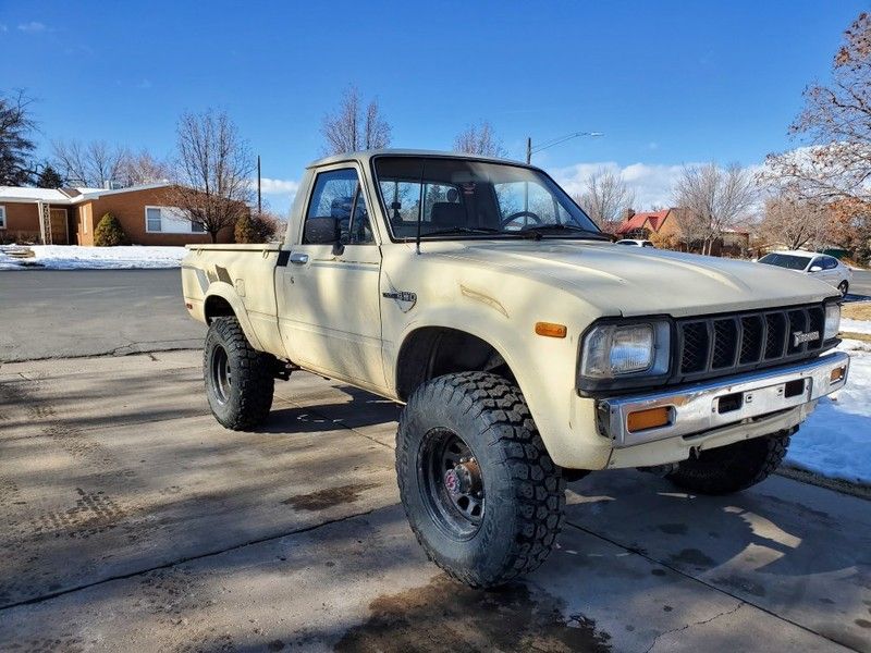
<path id="1" fill-rule="evenodd" d="M 465 477 L 457 478 L 478 472 L 481 494 L 465 506 L 463 496 L 452 500 L 454 483 L 446 480 L 451 465 L 464 459 Z M 495 374 L 447 374 L 415 391 L 400 418 L 396 476 L 408 522 L 429 558 L 474 588 L 536 569 L 562 528 L 562 471 L 519 389 Z"/>

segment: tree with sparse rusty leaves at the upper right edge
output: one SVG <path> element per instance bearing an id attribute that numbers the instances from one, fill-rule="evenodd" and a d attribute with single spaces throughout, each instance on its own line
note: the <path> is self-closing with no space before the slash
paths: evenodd
<path id="1" fill-rule="evenodd" d="M 789 127 L 810 141 L 768 158 L 768 176 L 815 200 L 871 205 L 871 15 L 844 33 L 829 85 L 805 90 L 805 109 Z"/>

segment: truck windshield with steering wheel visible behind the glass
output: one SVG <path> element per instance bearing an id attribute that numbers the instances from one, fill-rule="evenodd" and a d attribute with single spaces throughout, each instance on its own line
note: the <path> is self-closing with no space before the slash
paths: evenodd
<path id="1" fill-rule="evenodd" d="M 536 170 L 474 159 L 378 157 L 375 172 L 393 237 L 609 239 Z"/>

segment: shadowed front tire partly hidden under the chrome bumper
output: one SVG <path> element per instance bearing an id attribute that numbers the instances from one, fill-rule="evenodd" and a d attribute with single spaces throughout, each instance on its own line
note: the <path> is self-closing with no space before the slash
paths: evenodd
<path id="1" fill-rule="evenodd" d="M 795 431 L 793 431 L 795 432 Z M 764 481 L 780 467 L 789 446 L 789 431 L 753 438 L 701 452 L 682 461 L 666 478 L 697 494 L 728 494 Z"/>

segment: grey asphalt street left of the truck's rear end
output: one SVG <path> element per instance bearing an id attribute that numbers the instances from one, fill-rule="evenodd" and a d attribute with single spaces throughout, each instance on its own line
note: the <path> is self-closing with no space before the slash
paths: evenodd
<path id="1" fill-rule="evenodd" d="M 0 272 L 0 360 L 199 347 L 174 270 Z"/>

